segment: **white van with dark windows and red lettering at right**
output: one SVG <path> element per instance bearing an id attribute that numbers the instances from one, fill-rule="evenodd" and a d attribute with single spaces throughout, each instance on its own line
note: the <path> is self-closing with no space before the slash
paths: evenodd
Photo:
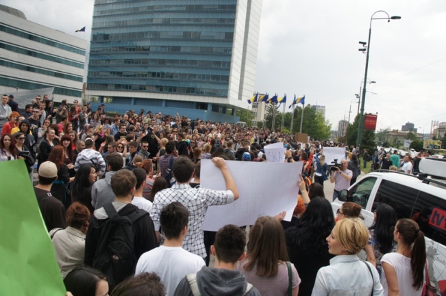
<path id="1" fill-rule="evenodd" d="M 446 283 L 446 159 L 422 159 L 420 171 L 419 176 L 371 172 L 340 191 L 332 208 L 336 213 L 343 202 L 356 202 L 362 206 L 367 227 L 372 226 L 373 212 L 382 203 L 393 206 L 398 219 L 416 221 L 425 234 L 430 278 L 440 291 L 438 282 Z"/>

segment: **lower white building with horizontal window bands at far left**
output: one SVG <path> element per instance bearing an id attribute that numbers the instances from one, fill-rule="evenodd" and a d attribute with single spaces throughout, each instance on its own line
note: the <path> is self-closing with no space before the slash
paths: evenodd
<path id="1" fill-rule="evenodd" d="M 2 93 L 53 88 L 56 101 L 80 98 L 85 49 L 85 40 L 27 21 L 20 10 L 0 5 Z"/>

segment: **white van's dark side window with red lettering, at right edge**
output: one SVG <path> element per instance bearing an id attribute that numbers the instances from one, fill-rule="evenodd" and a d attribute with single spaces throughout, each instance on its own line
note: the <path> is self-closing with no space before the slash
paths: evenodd
<path id="1" fill-rule="evenodd" d="M 446 200 L 419 191 L 411 218 L 426 237 L 446 245 Z"/>

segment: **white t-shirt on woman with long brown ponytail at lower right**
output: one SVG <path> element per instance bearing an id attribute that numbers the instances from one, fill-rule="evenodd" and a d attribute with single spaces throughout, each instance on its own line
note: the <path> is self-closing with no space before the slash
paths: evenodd
<path id="1" fill-rule="evenodd" d="M 382 256 L 381 263 L 388 263 L 397 274 L 399 295 L 404 296 L 421 296 L 423 286 L 418 291 L 412 287 L 412 272 L 410 269 L 410 258 L 399 253 L 388 253 Z M 425 271 L 423 271 L 425 273 Z M 386 273 L 382 269 L 381 284 L 384 288 L 384 295 L 388 295 L 388 284 L 386 280 Z"/>

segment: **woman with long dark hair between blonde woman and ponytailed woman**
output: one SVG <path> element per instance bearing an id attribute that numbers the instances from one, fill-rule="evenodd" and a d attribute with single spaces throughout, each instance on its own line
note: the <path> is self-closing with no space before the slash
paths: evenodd
<path id="1" fill-rule="evenodd" d="M 366 245 L 367 261 L 375 265 L 382 274 L 381 258 L 384 254 L 395 252 L 397 245 L 393 233 L 389 231 L 397 224 L 397 213 L 388 204 L 380 204 L 375 210 L 375 221 L 369 228 L 369 244 Z"/>

